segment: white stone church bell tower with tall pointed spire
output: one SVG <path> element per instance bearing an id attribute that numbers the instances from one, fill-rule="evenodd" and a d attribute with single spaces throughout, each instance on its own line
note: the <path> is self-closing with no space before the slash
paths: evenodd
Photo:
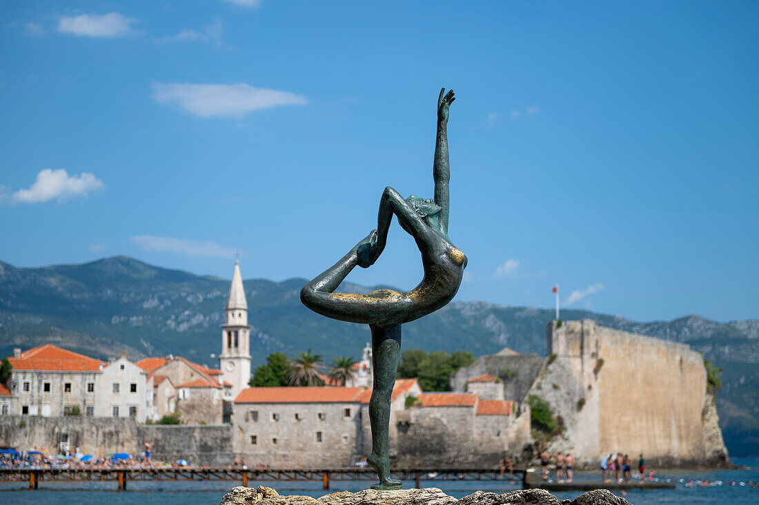
<path id="1" fill-rule="evenodd" d="M 235 272 L 224 312 L 219 365 L 222 380 L 231 384 L 231 399 L 234 399 L 250 380 L 250 326 L 247 325 L 247 300 L 238 260 L 235 260 Z"/>

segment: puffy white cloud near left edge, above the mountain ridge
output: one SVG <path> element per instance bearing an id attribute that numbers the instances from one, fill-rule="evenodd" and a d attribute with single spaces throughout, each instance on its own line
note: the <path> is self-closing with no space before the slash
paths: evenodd
<path id="1" fill-rule="evenodd" d="M 65 170 L 51 170 L 46 168 L 39 171 L 37 180 L 28 190 L 18 190 L 10 197 L 11 203 L 39 203 L 58 199 L 58 202 L 74 198 L 74 196 L 87 196 L 87 193 L 100 190 L 106 184 L 93 174 L 74 174 L 69 177 Z"/>

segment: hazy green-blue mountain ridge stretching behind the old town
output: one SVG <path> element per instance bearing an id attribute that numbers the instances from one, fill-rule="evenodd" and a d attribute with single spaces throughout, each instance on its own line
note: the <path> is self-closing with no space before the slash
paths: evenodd
<path id="1" fill-rule="evenodd" d="M 364 325 L 333 321 L 300 303 L 304 279 L 244 281 L 254 363 L 269 353 L 312 349 L 326 359 L 357 357 L 370 339 Z M 56 343 L 99 358 L 128 350 L 132 359 L 180 354 L 215 366 L 229 281 L 146 265 L 118 256 L 83 265 L 16 268 L 0 262 L 0 354 L 13 347 Z M 345 284 L 368 293 L 376 287 Z M 545 354 L 553 309 L 455 302 L 404 326 L 404 347 L 469 350 L 476 356 L 504 346 Z M 732 453 L 759 453 L 759 321 L 713 322 L 688 315 L 669 322 L 635 322 L 619 315 L 564 310 L 562 318 L 684 342 L 725 368 L 720 416 Z"/>

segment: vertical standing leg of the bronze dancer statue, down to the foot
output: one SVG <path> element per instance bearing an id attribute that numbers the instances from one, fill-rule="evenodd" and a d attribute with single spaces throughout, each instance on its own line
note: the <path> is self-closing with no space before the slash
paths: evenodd
<path id="1" fill-rule="evenodd" d="M 388 431 L 390 426 L 390 399 L 401 356 L 401 325 L 379 328 L 369 325 L 372 331 L 372 368 L 374 382 L 369 400 L 369 422 L 372 428 L 372 452 L 367 463 L 377 472 L 379 484 L 372 489 L 380 491 L 401 489 L 401 481 L 390 478 Z"/>

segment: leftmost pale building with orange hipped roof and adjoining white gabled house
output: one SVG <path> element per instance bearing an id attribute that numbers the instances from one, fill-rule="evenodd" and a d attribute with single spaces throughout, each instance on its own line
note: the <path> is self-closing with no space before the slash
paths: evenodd
<path id="1" fill-rule="evenodd" d="M 146 374 L 125 355 L 103 362 L 48 344 L 15 349 L 8 360 L 11 415 L 64 416 L 79 409 L 84 416 L 146 419 L 152 401 Z"/>

